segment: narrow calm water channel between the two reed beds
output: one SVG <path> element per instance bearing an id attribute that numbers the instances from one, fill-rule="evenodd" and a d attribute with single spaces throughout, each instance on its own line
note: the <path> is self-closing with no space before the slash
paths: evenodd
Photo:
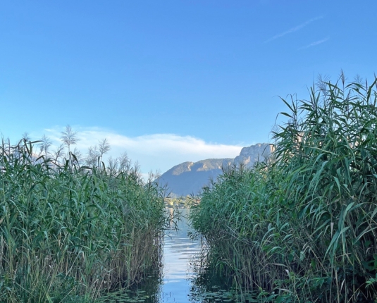
<path id="1" fill-rule="evenodd" d="M 173 209 L 169 209 L 173 211 Z M 136 290 L 123 292 L 104 302 L 211 303 L 245 302 L 206 273 L 202 245 L 188 235 L 188 209 L 180 209 L 180 219 L 171 222 L 177 230 L 167 230 L 163 238 L 163 258 L 159 273 L 149 276 Z M 204 273 L 204 275 L 203 275 Z M 247 302 L 247 301 L 246 301 Z M 255 302 L 255 301 L 254 301 Z"/>

